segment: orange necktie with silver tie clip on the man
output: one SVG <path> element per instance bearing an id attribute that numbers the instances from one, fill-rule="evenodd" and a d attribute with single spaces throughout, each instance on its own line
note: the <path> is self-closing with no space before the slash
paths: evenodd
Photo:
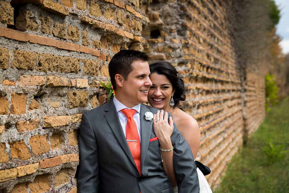
<path id="1" fill-rule="evenodd" d="M 136 168 L 138 168 L 138 173 L 141 174 L 142 170 L 140 167 L 140 138 L 138 136 L 138 127 L 136 122 L 132 118 L 136 110 L 134 109 L 123 109 L 121 110 L 123 114 L 127 117 L 126 125 L 126 137 L 127 144 L 129 146 L 132 157 L 134 158 L 134 163 L 136 163 Z"/>

